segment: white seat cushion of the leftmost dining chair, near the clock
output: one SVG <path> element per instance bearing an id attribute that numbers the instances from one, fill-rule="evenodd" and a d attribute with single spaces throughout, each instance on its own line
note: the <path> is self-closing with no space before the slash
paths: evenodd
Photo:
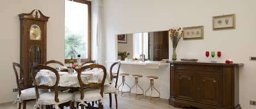
<path id="1" fill-rule="evenodd" d="M 38 89 L 39 91 L 39 95 L 40 94 L 43 94 L 43 93 L 46 93 L 46 92 L 49 92 L 48 89 Z M 18 95 L 19 96 L 19 95 Z M 27 89 L 23 89 L 21 91 L 21 94 L 20 94 L 20 100 L 31 100 L 31 99 L 36 99 L 36 96 L 35 96 L 35 88 L 34 87 L 31 87 L 31 88 L 27 88 Z"/>

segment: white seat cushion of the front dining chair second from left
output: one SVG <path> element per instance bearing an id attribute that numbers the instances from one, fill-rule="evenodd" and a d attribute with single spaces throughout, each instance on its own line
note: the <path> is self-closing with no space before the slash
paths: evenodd
<path id="1" fill-rule="evenodd" d="M 64 102 L 68 102 L 73 100 L 73 93 L 69 92 L 58 92 L 58 104 L 62 104 Z M 40 95 L 39 99 L 37 100 L 37 104 L 40 105 L 53 105 L 55 104 L 55 92 L 47 92 Z"/>

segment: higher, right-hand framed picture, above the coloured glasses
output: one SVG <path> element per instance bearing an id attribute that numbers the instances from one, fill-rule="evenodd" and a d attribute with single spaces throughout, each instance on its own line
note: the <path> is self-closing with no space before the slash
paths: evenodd
<path id="1" fill-rule="evenodd" d="M 213 30 L 235 29 L 235 14 L 214 16 Z"/>

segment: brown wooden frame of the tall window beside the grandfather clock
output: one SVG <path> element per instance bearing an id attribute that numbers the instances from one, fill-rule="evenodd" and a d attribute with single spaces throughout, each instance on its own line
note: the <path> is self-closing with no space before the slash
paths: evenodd
<path id="1" fill-rule="evenodd" d="M 91 1 L 84 1 L 84 0 L 68 0 L 68 1 L 73 1 L 73 2 L 78 2 L 78 3 L 84 3 L 88 5 L 88 58 L 87 59 L 81 59 L 81 62 L 84 61 L 90 61 L 91 60 L 91 8 L 92 8 L 92 3 Z M 73 59 L 74 62 L 76 62 L 76 59 Z M 65 59 L 65 63 L 69 63 L 70 59 Z"/>

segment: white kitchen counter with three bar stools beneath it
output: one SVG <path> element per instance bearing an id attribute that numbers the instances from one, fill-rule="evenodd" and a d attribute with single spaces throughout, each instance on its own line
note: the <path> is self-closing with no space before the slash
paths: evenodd
<path id="1" fill-rule="evenodd" d="M 106 69 L 109 70 L 112 63 L 118 61 L 106 61 Z M 150 86 L 150 80 L 145 78 L 146 76 L 158 76 L 158 79 L 154 80 L 154 87 L 160 92 L 160 98 L 169 99 L 170 97 L 170 63 L 163 63 L 160 61 L 120 61 L 120 72 L 128 73 L 129 75 L 139 74 L 142 78 L 139 78 L 139 85 L 146 91 Z M 116 72 L 117 66 L 114 67 L 112 72 Z M 122 77 L 119 76 L 118 85 L 122 82 Z M 129 86 L 134 85 L 134 78 L 126 76 L 126 82 Z M 129 91 L 129 87 L 125 86 L 124 91 Z M 132 93 L 135 92 L 135 88 L 132 89 Z M 138 93 L 142 93 L 138 89 Z M 145 92 L 144 92 L 145 93 Z M 150 93 L 147 92 L 146 95 Z M 152 91 L 154 97 L 158 96 L 156 91 Z M 140 96 L 139 96 L 140 97 Z M 142 96 L 141 96 L 142 97 Z"/>

